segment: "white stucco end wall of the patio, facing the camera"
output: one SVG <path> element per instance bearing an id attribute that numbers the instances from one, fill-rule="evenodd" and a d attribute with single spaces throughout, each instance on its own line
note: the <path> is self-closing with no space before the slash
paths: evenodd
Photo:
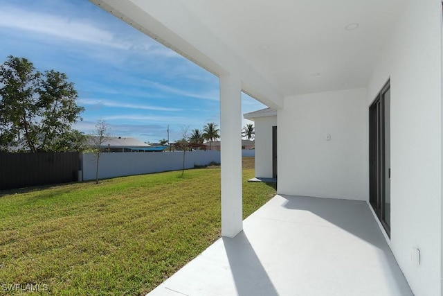
<path id="1" fill-rule="evenodd" d="M 368 184 L 366 89 L 285 98 L 278 110 L 278 193 L 368 200 Z"/>

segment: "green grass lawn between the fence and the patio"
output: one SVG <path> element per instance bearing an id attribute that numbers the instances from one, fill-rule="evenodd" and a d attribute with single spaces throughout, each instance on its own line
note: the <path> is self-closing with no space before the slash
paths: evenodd
<path id="1" fill-rule="evenodd" d="M 243 216 L 275 187 L 248 183 Z M 144 295 L 220 236 L 220 170 L 201 168 L 10 191 L 0 197 L 2 284 L 55 295 Z M 47 292 L 46 292 L 47 293 Z"/>

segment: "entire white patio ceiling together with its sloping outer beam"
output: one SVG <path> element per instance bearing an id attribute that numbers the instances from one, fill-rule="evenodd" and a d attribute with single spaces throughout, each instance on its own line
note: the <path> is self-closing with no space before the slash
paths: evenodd
<path id="1" fill-rule="evenodd" d="M 91 1 L 217 75 L 256 72 L 273 98 L 365 87 L 402 10 L 400 0 Z"/>

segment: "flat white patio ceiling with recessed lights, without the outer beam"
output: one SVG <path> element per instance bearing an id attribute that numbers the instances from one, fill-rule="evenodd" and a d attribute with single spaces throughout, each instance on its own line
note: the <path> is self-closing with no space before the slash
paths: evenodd
<path id="1" fill-rule="evenodd" d="M 284 96 L 365 87 L 398 0 L 183 1 Z"/>

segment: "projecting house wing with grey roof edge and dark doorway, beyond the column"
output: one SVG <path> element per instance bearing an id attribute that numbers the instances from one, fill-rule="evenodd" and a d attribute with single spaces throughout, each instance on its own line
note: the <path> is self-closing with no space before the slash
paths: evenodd
<path id="1" fill-rule="evenodd" d="M 254 121 L 255 177 L 277 177 L 277 111 L 265 108 L 243 117 Z"/>

